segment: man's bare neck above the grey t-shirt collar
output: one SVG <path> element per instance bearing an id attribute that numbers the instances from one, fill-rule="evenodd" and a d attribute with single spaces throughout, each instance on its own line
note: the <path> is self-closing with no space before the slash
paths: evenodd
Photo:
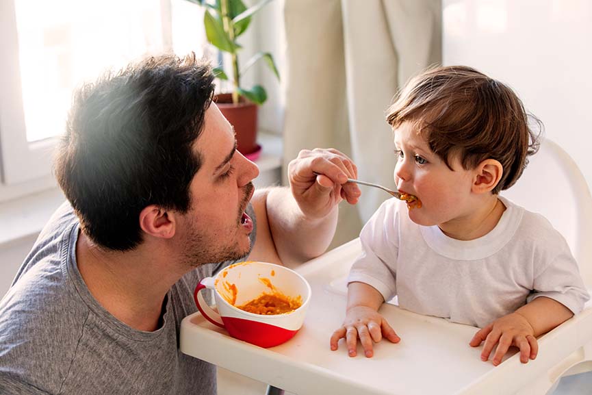
<path id="1" fill-rule="evenodd" d="M 129 252 L 105 251 L 82 232 L 76 243 L 76 260 L 96 301 L 140 331 L 159 328 L 165 296 L 183 275 L 175 274 L 158 253 L 146 251 L 145 246 Z"/>

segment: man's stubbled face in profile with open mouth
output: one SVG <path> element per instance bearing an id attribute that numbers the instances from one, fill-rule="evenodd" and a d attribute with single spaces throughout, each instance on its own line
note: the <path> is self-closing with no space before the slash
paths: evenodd
<path id="1" fill-rule="evenodd" d="M 253 222 L 244 210 L 259 168 L 235 149 L 230 123 L 215 103 L 205 114 L 201 136 L 194 143 L 202 166 L 190 185 L 191 207 L 179 221 L 183 264 L 239 259 L 250 251 Z"/>

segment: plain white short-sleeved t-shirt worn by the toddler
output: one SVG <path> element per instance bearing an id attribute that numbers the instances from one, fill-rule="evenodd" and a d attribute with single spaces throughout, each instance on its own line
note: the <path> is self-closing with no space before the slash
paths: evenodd
<path id="1" fill-rule="evenodd" d="M 389 199 L 360 233 L 362 255 L 348 282 L 367 283 L 385 301 L 454 322 L 485 327 L 538 296 L 578 314 L 589 294 L 563 236 L 540 214 L 505 199 L 498 225 L 475 240 L 449 238 L 409 219 Z"/>

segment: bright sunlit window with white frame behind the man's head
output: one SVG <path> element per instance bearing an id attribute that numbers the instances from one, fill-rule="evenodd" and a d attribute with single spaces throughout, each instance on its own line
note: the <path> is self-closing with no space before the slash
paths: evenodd
<path id="1" fill-rule="evenodd" d="M 51 183 L 77 85 L 150 53 L 202 56 L 201 21 L 185 0 L 0 1 L 0 201 Z"/>

